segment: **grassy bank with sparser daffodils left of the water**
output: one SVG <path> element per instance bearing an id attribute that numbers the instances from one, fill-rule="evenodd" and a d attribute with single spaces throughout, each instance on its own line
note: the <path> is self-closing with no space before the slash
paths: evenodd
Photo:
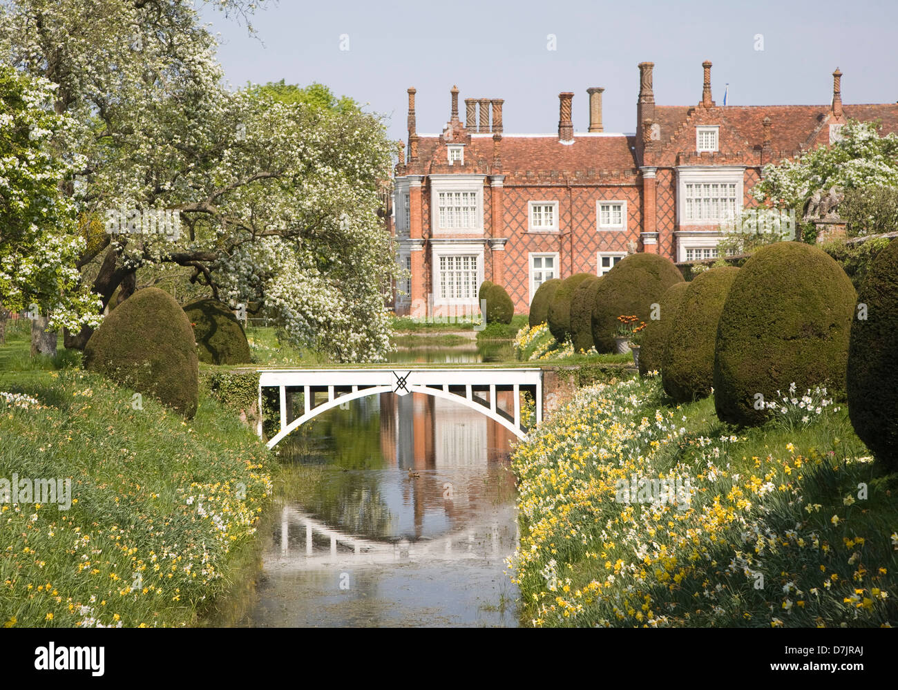
<path id="1" fill-rule="evenodd" d="M 27 397 L 0 396 L 0 478 L 60 491 L 0 506 L 0 624 L 198 624 L 254 575 L 269 451 L 206 394 L 183 420 L 80 370 L 75 353 L 22 353 L 13 332 L 0 391 Z"/>

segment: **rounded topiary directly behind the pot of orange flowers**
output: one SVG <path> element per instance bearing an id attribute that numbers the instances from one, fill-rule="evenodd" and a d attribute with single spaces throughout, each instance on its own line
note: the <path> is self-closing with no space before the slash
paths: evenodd
<path id="1" fill-rule="evenodd" d="M 612 352 L 618 316 L 636 315 L 649 321 L 653 304 L 667 288 L 682 283 L 674 261 L 657 254 L 630 254 L 605 274 L 595 290 L 593 342 L 599 352 Z"/>

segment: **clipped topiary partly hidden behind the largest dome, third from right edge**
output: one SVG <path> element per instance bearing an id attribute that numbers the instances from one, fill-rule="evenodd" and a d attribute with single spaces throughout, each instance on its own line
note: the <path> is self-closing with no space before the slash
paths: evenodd
<path id="1" fill-rule="evenodd" d="M 726 266 L 706 270 L 686 283 L 689 287 L 667 331 L 661 365 L 665 392 L 678 403 L 711 394 L 720 312 L 738 273 L 739 269 Z"/>

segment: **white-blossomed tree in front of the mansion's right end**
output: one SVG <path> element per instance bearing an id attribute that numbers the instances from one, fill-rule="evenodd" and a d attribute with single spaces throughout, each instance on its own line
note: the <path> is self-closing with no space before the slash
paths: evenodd
<path id="1" fill-rule="evenodd" d="M 880 137 L 877 129 L 876 123 L 850 120 L 832 145 L 764 166 L 753 197 L 775 208 L 793 209 L 801 218 L 807 199 L 818 190 L 898 188 L 898 136 Z"/>

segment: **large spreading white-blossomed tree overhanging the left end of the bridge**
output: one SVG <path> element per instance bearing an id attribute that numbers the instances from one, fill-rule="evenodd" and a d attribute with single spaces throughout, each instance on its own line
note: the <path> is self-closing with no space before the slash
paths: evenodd
<path id="1" fill-rule="evenodd" d="M 264 307 L 295 345 L 383 356 L 398 269 L 377 217 L 392 151 L 380 119 L 346 101 L 228 91 L 189 0 L 16 0 L 0 12 L 0 50 L 57 84 L 56 110 L 75 120 L 75 265 L 102 305 L 133 291 L 136 270 L 177 265 L 216 298 Z M 113 209 L 175 209 L 183 232 L 110 234 Z"/>

